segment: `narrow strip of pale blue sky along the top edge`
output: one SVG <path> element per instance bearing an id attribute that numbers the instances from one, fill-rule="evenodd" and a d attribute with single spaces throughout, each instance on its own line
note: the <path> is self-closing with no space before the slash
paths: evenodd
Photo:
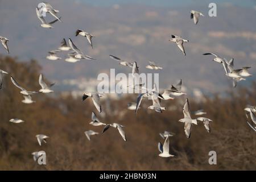
<path id="1" fill-rule="evenodd" d="M 158 6 L 158 7 L 180 7 L 180 6 L 187 6 L 187 5 L 202 5 L 205 3 L 209 5 L 210 2 L 214 2 L 217 4 L 224 4 L 224 3 L 232 3 L 235 6 L 242 6 L 242 7 L 254 7 L 256 5 L 255 0 L 230 0 L 230 1 L 223 1 L 223 0 L 77 0 L 79 2 L 89 3 L 90 5 L 94 6 L 112 6 L 114 4 L 123 4 L 123 3 L 139 3 L 142 5 L 149 5 L 149 6 Z"/>

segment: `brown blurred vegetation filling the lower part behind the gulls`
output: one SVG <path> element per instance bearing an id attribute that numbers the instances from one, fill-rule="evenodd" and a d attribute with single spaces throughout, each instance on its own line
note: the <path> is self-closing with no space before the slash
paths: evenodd
<path id="1" fill-rule="evenodd" d="M 207 98 L 203 103 L 191 102 L 191 110 L 204 108 L 212 119 L 212 132 L 205 130 L 203 123 L 193 126 L 191 138 L 187 139 L 179 100 L 163 101 L 163 105 L 176 105 L 176 111 L 155 113 L 140 109 L 127 110 L 127 102 L 135 101 L 129 96 L 119 101 L 110 101 L 111 110 L 102 118 L 90 100 L 82 102 L 72 97 L 52 98 L 49 95 L 34 96 L 36 103 L 26 105 L 23 97 L 10 81 L 10 75 L 26 86 L 38 90 L 40 66 L 36 61 L 16 62 L 11 57 L 0 57 L 0 69 L 10 74 L 5 77 L 0 91 L 0 169 L 2 170 L 255 170 L 255 133 L 245 122 L 243 108 L 256 105 L 256 84 L 228 93 L 222 99 Z M 185 101 L 185 97 L 180 98 Z M 181 102 L 181 103 L 182 103 Z M 149 104 L 149 103 L 148 103 Z M 103 107 L 106 110 L 105 104 Z M 92 136 L 88 141 L 85 130 L 101 133 L 101 126 L 89 125 L 90 115 L 95 111 L 106 123 L 125 125 L 127 142 L 118 131 Z M 113 111 L 120 111 L 117 115 Z M 193 116 L 195 117 L 195 116 Z M 9 119 L 24 119 L 24 123 L 10 123 Z M 111 131 L 113 132 L 111 132 Z M 160 158 L 157 144 L 163 142 L 159 133 L 168 130 L 176 133 L 171 140 L 174 158 Z M 46 134 L 47 144 L 39 146 L 35 135 Z M 44 150 L 47 165 L 39 166 L 31 152 Z M 217 152 L 217 165 L 208 164 L 208 152 Z"/>

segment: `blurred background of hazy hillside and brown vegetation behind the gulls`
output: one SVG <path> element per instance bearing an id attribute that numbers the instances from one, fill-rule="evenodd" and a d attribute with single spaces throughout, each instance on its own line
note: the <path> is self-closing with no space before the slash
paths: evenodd
<path id="1" fill-rule="evenodd" d="M 210 1 L 56 0 L 49 3 L 60 11 L 63 23 L 56 22 L 47 30 L 40 27 L 35 13 L 40 1 L 0 1 L 0 35 L 10 39 L 10 55 L 6 57 L 0 47 L 0 69 L 28 90 L 39 89 L 40 73 L 56 82 L 55 93 L 35 96 L 36 103 L 26 105 L 20 102 L 22 96 L 11 84 L 10 75 L 5 77 L 0 91 L 0 169 L 255 170 L 255 133 L 247 126 L 243 111 L 247 104 L 256 105 L 255 76 L 232 88 L 222 66 L 202 54 L 234 58 L 235 68 L 251 66 L 249 72 L 255 75 L 256 2 L 214 2 L 217 17 L 208 16 Z M 190 19 L 191 10 L 205 15 L 197 25 Z M 93 49 L 85 38 L 75 36 L 77 28 L 96 36 Z M 168 41 L 171 34 L 189 40 L 184 43 L 187 56 Z M 47 60 L 47 52 L 57 49 L 63 38 L 71 38 L 97 62 L 67 63 L 67 52 L 59 54 L 61 60 Z M 147 110 L 151 101 L 145 101 L 137 117 L 127 110 L 127 103 L 137 99 L 133 94 L 108 94 L 102 100 L 102 114 L 91 101 L 81 102 L 83 92 L 96 88 L 99 73 L 109 73 L 110 68 L 116 73 L 131 72 L 111 60 L 110 54 L 136 60 L 140 72 L 159 73 L 161 89 L 182 79 L 191 110 L 207 111 L 205 117 L 213 120 L 212 132 L 207 133 L 200 123 L 193 127 L 191 138 L 185 138 L 183 123 L 177 121 L 183 118 L 186 97 L 162 102 L 168 110 L 160 114 Z M 149 60 L 163 69 L 147 70 Z M 92 111 L 102 122 L 125 125 L 127 142 L 115 129 L 92 136 L 89 142 L 85 130 L 102 131 L 102 127 L 89 125 Z M 11 118 L 25 122 L 15 125 L 8 122 Z M 175 158 L 158 156 L 157 144 L 163 143 L 159 133 L 164 130 L 176 133 L 170 138 Z M 38 146 L 36 134 L 48 135 L 47 144 Z M 46 151 L 46 166 L 32 159 L 31 153 L 39 150 Z M 217 152 L 216 166 L 208 164 L 211 150 Z"/>

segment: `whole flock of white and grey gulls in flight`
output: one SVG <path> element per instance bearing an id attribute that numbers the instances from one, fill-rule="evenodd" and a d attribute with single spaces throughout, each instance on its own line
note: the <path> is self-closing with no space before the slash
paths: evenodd
<path id="1" fill-rule="evenodd" d="M 40 22 L 42 22 L 42 24 L 40 24 L 41 27 L 53 28 L 52 24 L 54 24 L 56 22 L 62 22 L 61 17 L 57 16 L 57 14 L 59 13 L 58 10 L 53 9 L 53 7 L 51 5 L 49 5 L 49 3 L 46 3 L 46 2 L 42 2 L 42 3 L 44 6 L 42 6 L 40 8 L 36 7 L 36 15 L 38 16 L 38 19 L 40 20 Z M 47 23 L 46 20 L 44 19 L 44 16 L 42 15 L 42 13 L 52 15 L 55 18 L 55 20 Z M 195 24 L 197 24 L 199 22 L 200 16 L 204 16 L 204 15 L 202 13 L 200 13 L 199 11 L 195 11 L 195 10 L 191 11 L 191 19 L 193 19 L 193 22 Z M 83 36 L 84 38 L 86 38 L 90 47 L 93 48 L 92 38 L 94 36 L 92 34 L 89 34 L 88 32 L 86 32 L 84 30 L 78 29 L 78 30 L 76 30 L 75 35 Z M 0 40 L 1 40 L 3 47 L 9 53 L 9 48 L 7 46 L 7 42 L 9 41 L 9 39 L 7 39 L 3 36 L 0 36 Z M 171 35 L 170 41 L 176 43 L 177 47 L 180 49 L 180 51 L 183 53 L 183 55 L 186 55 L 183 43 L 184 42 L 188 43 L 189 41 L 187 39 L 183 39 L 183 38 L 181 38 L 181 36 Z M 61 52 L 61 51 L 71 51 L 67 54 L 68 57 L 65 59 L 65 61 L 68 61 L 71 63 L 75 63 L 77 61 L 80 61 L 81 59 L 96 60 L 88 55 L 85 55 L 85 53 L 83 53 L 81 51 L 81 49 L 77 48 L 77 46 L 73 43 L 73 41 L 70 38 L 68 39 L 68 44 L 67 44 L 66 40 L 63 39 L 63 41 L 60 44 L 60 47 L 57 48 L 56 50 L 49 51 L 48 52 L 49 55 L 46 58 L 48 60 L 59 60 L 59 59 L 61 59 L 61 57 L 57 56 L 57 53 Z M 228 61 L 224 57 L 218 56 L 216 53 L 204 53 L 203 55 L 212 55 L 212 56 L 214 56 L 214 59 L 213 59 L 214 62 L 220 63 L 223 65 L 225 75 L 233 81 L 234 87 L 237 85 L 238 82 L 245 80 L 246 77 L 251 76 L 251 74 L 248 72 L 248 69 L 250 67 L 234 69 L 234 59 L 230 59 Z M 127 109 L 134 110 L 135 114 L 137 114 L 138 110 L 141 108 L 140 105 L 141 105 L 141 102 L 143 101 L 143 98 L 148 98 L 148 99 L 152 100 L 152 105 L 148 106 L 148 109 L 152 109 L 158 113 L 162 113 L 163 110 L 166 110 L 166 107 L 163 107 L 160 105 L 161 100 L 174 100 L 176 97 L 186 95 L 186 93 L 183 93 L 181 91 L 182 80 L 180 80 L 177 84 L 172 84 L 170 87 L 164 89 L 163 93 L 159 93 L 158 89 L 156 88 L 156 84 L 154 84 L 154 87 L 151 90 L 144 88 L 143 84 L 140 82 L 139 77 L 138 77 L 138 75 L 139 75 L 138 68 L 139 67 L 138 67 L 136 61 L 123 60 L 114 55 L 109 55 L 109 57 L 115 61 L 118 61 L 118 63 L 120 65 L 131 68 L 131 73 L 133 75 L 134 84 L 129 85 L 127 87 L 133 88 L 133 89 L 139 88 L 139 90 L 141 91 L 141 93 L 139 93 L 139 95 L 137 97 L 137 102 L 130 102 L 127 106 Z M 153 61 L 149 61 L 149 64 L 146 66 L 146 68 L 154 69 L 154 70 L 163 69 L 162 67 L 160 67 Z M 3 77 L 7 74 L 9 74 L 9 73 L 2 71 L 0 69 L 0 89 L 2 89 Z M 24 97 L 24 100 L 22 100 L 22 102 L 24 104 L 34 103 L 35 101 L 32 100 L 32 96 L 34 94 L 40 94 L 40 93 L 47 94 L 47 93 L 53 92 L 51 87 L 54 85 L 54 83 L 47 85 L 46 82 L 44 82 L 42 74 L 39 75 L 39 85 L 41 86 L 41 89 L 36 90 L 36 91 L 26 90 L 25 88 L 20 86 L 19 82 L 16 81 L 16 78 L 14 78 L 13 76 L 11 76 L 10 78 L 11 78 L 11 82 L 13 82 L 13 84 L 17 88 L 20 89 L 20 94 L 22 94 L 22 96 Z M 100 104 L 100 97 L 103 97 L 103 96 L 104 96 L 104 94 L 97 93 L 97 92 L 86 92 L 82 96 L 82 101 L 86 100 L 86 98 L 88 98 L 88 97 L 91 98 L 94 106 L 96 107 L 98 112 L 101 113 L 102 107 Z M 254 114 L 256 111 L 256 107 L 255 106 L 247 106 L 245 108 L 245 111 L 246 111 L 246 118 L 247 119 L 251 118 L 251 121 L 253 121 L 254 125 L 256 125 L 256 117 Z M 212 122 L 212 120 L 209 118 L 206 118 L 206 117 L 201 117 L 201 115 L 207 114 L 204 110 L 194 111 L 193 115 L 195 115 L 196 117 L 192 118 L 188 98 L 185 100 L 185 104 L 183 106 L 183 114 L 184 114 L 184 118 L 179 119 L 179 122 L 184 123 L 184 133 L 187 138 L 191 137 L 192 125 L 199 125 L 200 122 L 204 124 L 205 129 L 208 131 L 208 133 L 210 133 L 210 123 Z M 197 116 L 199 116 L 199 117 L 197 117 Z M 24 121 L 22 119 L 13 118 L 13 119 L 10 119 L 10 122 L 22 123 Z M 256 131 L 256 127 L 253 126 L 252 123 L 250 123 L 249 121 L 246 121 L 246 122 L 251 127 L 251 129 Z M 104 126 L 102 133 L 105 133 L 107 130 L 109 130 L 110 127 L 113 127 L 118 130 L 118 132 L 121 135 L 123 140 L 125 140 L 125 141 L 127 140 L 125 130 L 124 130 L 125 126 L 123 126 L 119 123 L 101 122 L 100 119 L 97 118 L 97 115 L 96 115 L 96 113 L 94 113 L 94 111 L 92 111 L 92 121 L 89 124 L 93 125 L 93 126 Z M 88 140 L 91 140 L 92 135 L 98 135 L 99 133 L 97 133 L 93 130 L 88 130 L 88 131 L 85 131 L 84 134 L 85 134 L 86 138 L 88 138 Z M 158 143 L 158 149 L 160 151 L 159 156 L 164 157 L 164 158 L 174 156 L 174 155 L 170 154 L 170 139 L 169 139 L 170 137 L 173 137 L 174 135 L 175 135 L 174 133 L 171 133 L 169 131 L 164 131 L 163 133 L 160 133 L 160 137 L 164 139 L 164 143 L 163 144 L 160 142 Z M 38 140 L 39 146 L 41 146 L 43 142 L 46 143 L 47 138 L 49 138 L 47 135 L 43 135 L 43 134 L 36 135 L 36 139 Z M 36 152 L 32 153 L 34 160 L 37 160 L 39 158 L 39 156 L 42 156 L 45 154 L 46 154 L 45 151 L 36 151 Z"/>

